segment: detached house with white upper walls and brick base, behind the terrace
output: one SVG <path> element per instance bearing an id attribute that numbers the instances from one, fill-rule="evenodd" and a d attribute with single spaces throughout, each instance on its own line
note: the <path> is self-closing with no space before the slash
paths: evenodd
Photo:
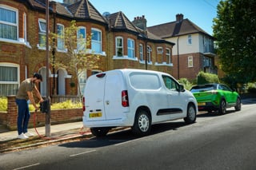
<path id="1" fill-rule="evenodd" d="M 218 73 L 214 38 L 189 19 L 184 19 L 183 14 L 177 14 L 174 22 L 150 26 L 147 30 L 166 41 L 175 42 L 174 77 L 194 80 L 199 71 Z"/>

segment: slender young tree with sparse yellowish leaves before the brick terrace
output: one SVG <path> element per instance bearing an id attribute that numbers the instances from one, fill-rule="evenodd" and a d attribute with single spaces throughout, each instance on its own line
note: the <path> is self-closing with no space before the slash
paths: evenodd
<path id="1" fill-rule="evenodd" d="M 86 69 L 98 68 L 99 55 L 87 48 L 90 45 L 91 36 L 85 39 L 84 35 L 79 33 L 75 21 L 70 22 L 70 26 L 66 27 L 63 33 L 51 34 L 51 42 L 54 46 L 56 39 L 58 42 L 64 42 L 66 53 L 62 53 L 61 57 L 52 58 L 51 64 L 54 67 L 69 70 L 72 75 L 76 75 L 77 79 Z M 79 81 L 78 95 L 81 96 Z"/>

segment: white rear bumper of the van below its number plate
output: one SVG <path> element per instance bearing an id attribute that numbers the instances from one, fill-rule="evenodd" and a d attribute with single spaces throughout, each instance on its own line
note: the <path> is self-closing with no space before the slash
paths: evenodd
<path id="1" fill-rule="evenodd" d="M 132 126 L 134 122 L 129 122 L 127 119 L 112 119 L 103 121 L 86 121 L 86 117 L 82 117 L 82 123 L 87 128 L 98 127 L 122 127 Z"/>

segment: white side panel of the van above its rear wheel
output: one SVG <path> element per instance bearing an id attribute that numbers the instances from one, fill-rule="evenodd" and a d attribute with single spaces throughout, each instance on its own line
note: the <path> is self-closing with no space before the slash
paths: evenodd
<path id="1" fill-rule="evenodd" d="M 129 80 L 127 86 L 131 98 L 131 113 L 134 115 L 138 107 L 146 106 L 150 109 L 152 122 L 161 121 L 162 117 L 156 115 L 159 109 L 167 109 L 168 101 L 158 74 L 133 72 L 127 75 L 126 80 Z"/>

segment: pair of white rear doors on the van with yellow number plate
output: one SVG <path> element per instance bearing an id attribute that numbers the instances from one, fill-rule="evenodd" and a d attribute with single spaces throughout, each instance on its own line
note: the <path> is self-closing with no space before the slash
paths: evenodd
<path id="1" fill-rule="evenodd" d="M 113 70 L 91 76 L 84 97 L 86 121 L 122 119 L 129 111 L 122 106 L 122 90 L 126 89 L 122 72 Z M 128 112 L 127 111 L 127 112 Z"/>

